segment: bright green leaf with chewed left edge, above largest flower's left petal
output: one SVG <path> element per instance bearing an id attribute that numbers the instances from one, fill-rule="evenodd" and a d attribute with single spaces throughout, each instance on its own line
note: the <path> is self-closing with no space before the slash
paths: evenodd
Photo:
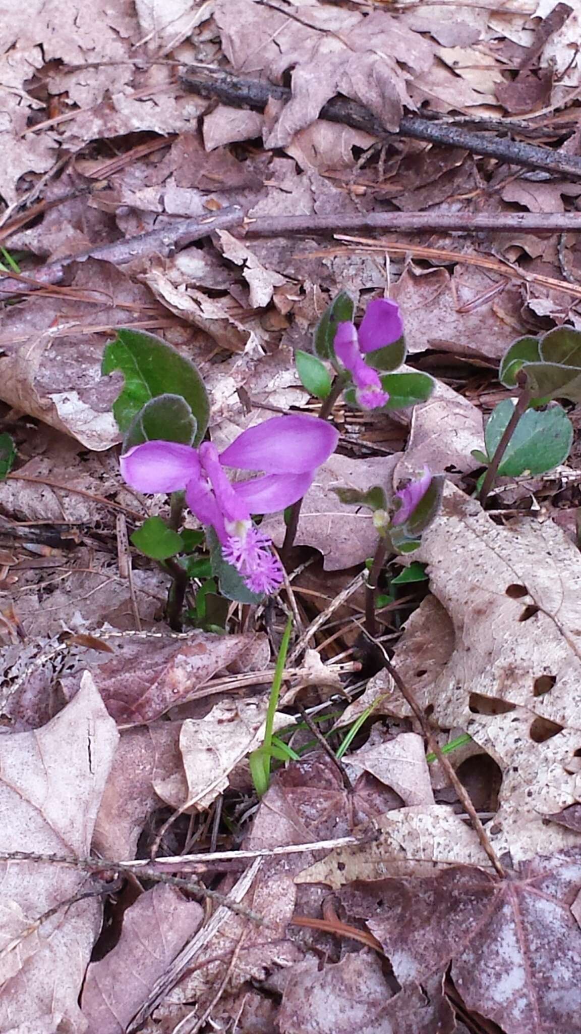
<path id="1" fill-rule="evenodd" d="M 206 433 L 210 405 L 197 369 L 160 337 L 145 331 L 121 328 L 103 353 L 101 372 L 121 370 L 125 386 L 113 404 L 119 428 L 125 433 L 140 409 L 158 395 L 181 395 L 188 403 L 197 430 L 194 445 Z"/>

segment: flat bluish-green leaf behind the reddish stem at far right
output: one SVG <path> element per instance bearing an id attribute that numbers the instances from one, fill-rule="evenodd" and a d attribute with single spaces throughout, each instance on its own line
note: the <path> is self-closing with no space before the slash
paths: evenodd
<path id="1" fill-rule="evenodd" d="M 514 402 L 506 399 L 494 408 L 486 425 L 485 442 L 490 459 L 514 413 Z M 518 478 L 521 474 L 545 474 L 568 457 L 573 443 L 573 427 L 564 409 L 557 404 L 538 412 L 527 409 L 520 418 L 498 474 Z"/>

